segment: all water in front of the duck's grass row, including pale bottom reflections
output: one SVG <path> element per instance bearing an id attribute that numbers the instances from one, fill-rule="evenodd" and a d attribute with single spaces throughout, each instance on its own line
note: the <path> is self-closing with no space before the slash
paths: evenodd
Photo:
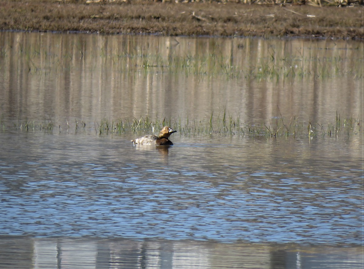
<path id="1" fill-rule="evenodd" d="M 363 143 L 174 135 L 1 134 L 0 267 L 363 267 Z"/>

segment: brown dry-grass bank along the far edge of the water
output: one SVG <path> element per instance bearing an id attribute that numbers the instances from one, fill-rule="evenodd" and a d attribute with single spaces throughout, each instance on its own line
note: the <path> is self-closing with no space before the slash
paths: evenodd
<path id="1" fill-rule="evenodd" d="M 364 39 L 364 7 L 8 0 L 0 29 Z"/>

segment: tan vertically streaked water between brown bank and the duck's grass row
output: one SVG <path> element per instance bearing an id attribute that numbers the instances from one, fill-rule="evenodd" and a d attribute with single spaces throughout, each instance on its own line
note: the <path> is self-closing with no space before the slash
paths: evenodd
<path id="1" fill-rule="evenodd" d="M 1 32 L 0 48 L 9 123 L 148 115 L 184 124 L 224 107 L 248 123 L 364 118 L 360 41 Z"/>

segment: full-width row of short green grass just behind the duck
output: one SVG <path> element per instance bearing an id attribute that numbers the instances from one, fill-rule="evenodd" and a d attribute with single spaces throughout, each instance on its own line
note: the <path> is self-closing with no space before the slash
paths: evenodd
<path id="1" fill-rule="evenodd" d="M 184 123 L 183 123 L 184 122 Z M 66 120 L 67 132 L 73 124 Z M 278 139 L 283 137 L 322 137 L 338 138 L 340 136 L 350 137 L 352 135 L 363 135 L 363 122 L 358 118 L 342 117 L 339 111 L 336 112 L 335 122 L 318 123 L 312 119 L 307 121 L 292 116 L 285 119 L 280 115 L 270 122 L 244 122 L 240 115 L 232 115 L 226 108 L 218 113 L 212 112 L 206 119 L 190 119 L 188 115 L 185 118 L 178 116 L 177 120 L 172 118 L 151 119 L 148 115 L 140 118 L 118 118 L 118 119 L 101 119 L 94 122 L 94 126 L 87 126 L 84 120 L 74 123 L 75 133 L 78 131 L 94 130 L 96 135 L 121 135 L 127 132 L 138 134 L 158 133 L 163 126 L 170 126 L 177 130 L 180 135 L 184 136 L 201 136 L 201 135 L 223 135 L 237 137 L 265 137 L 269 139 Z M 61 125 L 57 126 L 61 130 Z M 17 123 L 7 124 L 4 116 L 0 117 L 0 128 L 2 132 L 8 130 L 20 130 L 25 132 L 44 131 L 52 133 L 54 123 L 50 118 L 44 118 L 40 122 L 35 120 L 18 119 Z"/>

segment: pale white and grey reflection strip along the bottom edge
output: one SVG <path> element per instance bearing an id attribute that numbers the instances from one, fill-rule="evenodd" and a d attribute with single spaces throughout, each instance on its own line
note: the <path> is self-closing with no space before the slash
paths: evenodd
<path id="1" fill-rule="evenodd" d="M 363 247 L 0 237 L 1 268 L 363 268 Z M 21 257 L 19 259 L 19 257 Z"/>

